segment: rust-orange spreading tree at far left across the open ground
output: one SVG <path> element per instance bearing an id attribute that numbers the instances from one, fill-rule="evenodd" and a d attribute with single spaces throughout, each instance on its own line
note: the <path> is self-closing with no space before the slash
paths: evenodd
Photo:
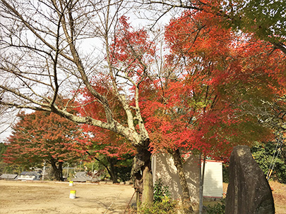
<path id="1" fill-rule="evenodd" d="M 88 145 L 76 123 L 42 111 L 20 113 L 18 118 L 8 138 L 6 163 L 28 168 L 47 162 L 52 165 L 54 178 L 63 180 L 63 164 L 85 158 Z"/>

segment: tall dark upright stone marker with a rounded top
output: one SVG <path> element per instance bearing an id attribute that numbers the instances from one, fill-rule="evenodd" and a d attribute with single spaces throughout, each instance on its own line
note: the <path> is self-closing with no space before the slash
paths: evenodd
<path id="1" fill-rule="evenodd" d="M 236 146 L 230 155 L 225 214 L 275 214 L 270 186 L 249 146 Z"/>

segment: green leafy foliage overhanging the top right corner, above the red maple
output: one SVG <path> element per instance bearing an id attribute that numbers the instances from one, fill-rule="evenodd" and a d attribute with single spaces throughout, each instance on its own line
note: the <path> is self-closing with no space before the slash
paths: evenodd
<path id="1" fill-rule="evenodd" d="M 270 42 L 285 42 L 285 1 L 224 1 L 232 26 Z M 227 4 L 228 3 L 228 4 Z"/>

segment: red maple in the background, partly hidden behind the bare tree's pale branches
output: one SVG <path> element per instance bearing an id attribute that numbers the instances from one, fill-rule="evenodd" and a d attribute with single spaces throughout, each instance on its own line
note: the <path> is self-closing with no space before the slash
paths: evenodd
<path id="1" fill-rule="evenodd" d="M 109 106 L 112 109 L 112 115 L 118 121 L 124 123 L 126 115 L 120 104 L 116 99 L 116 96 L 109 91 L 110 82 L 107 75 L 100 75 L 93 77 L 93 88 L 102 94 L 106 94 L 109 100 Z M 94 97 L 85 88 L 81 90 L 81 107 L 78 108 L 78 112 L 82 116 L 97 118 L 98 120 L 105 120 L 105 110 L 100 103 L 94 100 Z M 129 167 L 122 165 L 123 159 L 126 157 L 132 157 L 135 154 L 135 150 L 131 146 L 129 141 L 126 141 L 124 137 L 115 132 L 95 127 L 92 125 L 81 125 L 83 132 L 85 132 L 85 141 L 89 141 L 89 158 L 95 159 L 100 164 L 105 166 L 105 169 L 110 175 L 113 182 L 118 182 L 118 167 Z M 105 163 L 104 160 L 107 160 Z"/>

